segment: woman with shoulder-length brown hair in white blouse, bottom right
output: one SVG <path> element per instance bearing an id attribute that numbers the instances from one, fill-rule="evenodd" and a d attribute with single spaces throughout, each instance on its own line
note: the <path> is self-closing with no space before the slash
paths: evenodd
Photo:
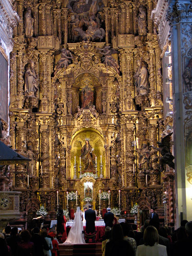
<path id="1" fill-rule="evenodd" d="M 166 246 L 158 243 L 159 234 L 155 227 L 148 226 L 143 239 L 144 244 L 138 246 L 136 256 L 167 256 Z"/>

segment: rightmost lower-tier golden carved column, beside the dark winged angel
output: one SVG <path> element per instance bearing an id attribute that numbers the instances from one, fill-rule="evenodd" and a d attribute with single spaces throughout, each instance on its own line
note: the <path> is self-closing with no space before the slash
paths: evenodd
<path id="1" fill-rule="evenodd" d="M 157 120 L 149 119 L 149 138 L 152 146 L 157 147 Z M 157 150 L 151 148 L 152 171 L 150 171 L 151 185 L 159 185 L 159 164 Z"/>

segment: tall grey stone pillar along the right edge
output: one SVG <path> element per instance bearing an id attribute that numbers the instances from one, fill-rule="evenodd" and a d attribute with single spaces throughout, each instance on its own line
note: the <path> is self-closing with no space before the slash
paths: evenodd
<path id="1" fill-rule="evenodd" d="M 169 0 L 167 19 L 172 42 L 173 127 L 175 148 L 176 225 L 192 219 L 192 12 L 190 0 Z M 189 71 L 190 70 L 190 71 Z"/>

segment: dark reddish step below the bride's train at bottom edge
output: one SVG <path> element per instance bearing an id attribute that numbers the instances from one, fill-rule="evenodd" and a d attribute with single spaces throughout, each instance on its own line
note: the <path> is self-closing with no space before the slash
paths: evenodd
<path id="1" fill-rule="evenodd" d="M 101 243 L 59 244 L 60 256 L 102 256 Z"/>

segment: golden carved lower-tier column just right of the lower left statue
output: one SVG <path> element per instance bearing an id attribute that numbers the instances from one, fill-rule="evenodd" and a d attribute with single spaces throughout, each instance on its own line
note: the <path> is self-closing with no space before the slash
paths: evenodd
<path id="1" fill-rule="evenodd" d="M 48 125 L 40 126 L 40 189 L 49 188 L 49 130 Z"/>

